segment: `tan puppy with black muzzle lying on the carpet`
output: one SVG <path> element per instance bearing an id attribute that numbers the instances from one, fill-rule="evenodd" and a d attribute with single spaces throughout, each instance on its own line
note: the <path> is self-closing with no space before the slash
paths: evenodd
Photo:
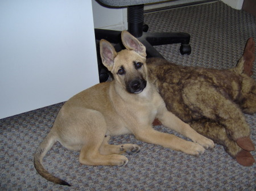
<path id="1" fill-rule="evenodd" d="M 155 86 L 148 82 L 146 48 L 126 31 L 122 32 L 122 42 L 126 49 L 117 53 L 112 44 L 101 40 L 102 62 L 114 80 L 97 84 L 69 99 L 36 151 L 35 168 L 47 180 L 69 185 L 42 165 L 44 155 L 56 141 L 70 150 L 80 151 L 79 162 L 86 165 L 126 165 L 128 159 L 121 154 L 139 151 L 137 145 L 109 145 L 110 135 L 134 134 L 138 140 L 191 155 L 203 154 L 205 148 L 214 147 L 212 140 L 167 111 Z M 151 124 L 156 117 L 193 142 L 154 130 Z"/>

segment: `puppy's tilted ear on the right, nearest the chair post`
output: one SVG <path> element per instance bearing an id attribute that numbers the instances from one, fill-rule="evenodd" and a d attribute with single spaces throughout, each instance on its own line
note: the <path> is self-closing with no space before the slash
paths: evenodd
<path id="1" fill-rule="evenodd" d="M 134 50 L 143 57 L 147 56 L 146 47 L 129 32 L 122 31 L 121 37 L 125 48 L 127 48 L 128 50 Z"/>

